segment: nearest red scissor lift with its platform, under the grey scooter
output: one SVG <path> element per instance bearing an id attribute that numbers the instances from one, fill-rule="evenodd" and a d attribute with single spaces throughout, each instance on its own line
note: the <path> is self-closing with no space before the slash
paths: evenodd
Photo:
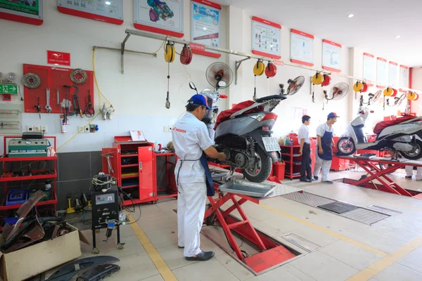
<path id="1" fill-rule="evenodd" d="M 286 263 L 286 261 L 290 261 L 296 256 L 302 254 L 299 251 L 279 242 L 274 237 L 255 229 L 241 207 L 242 204 L 248 201 L 260 204 L 261 200 L 293 192 L 303 192 L 302 189 L 293 188 L 288 185 L 282 185 L 281 183 L 271 181 L 265 181 L 261 184 L 250 183 L 250 181 L 243 178 L 242 174 L 236 172 L 231 176 L 231 180 L 226 182 L 226 176 L 229 174 L 228 170 L 210 166 L 210 171 L 214 173 L 212 178 L 216 193 L 215 197 L 208 197 L 210 207 L 205 211 L 204 221 L 207 226 L 212 226 L 215 223 L 219 223 L 222 226 L 229 242 L 229 246 L 233 249 L 233 251 L 227 249 L 226 245 L 220 243 L 221 241 L 218 242 L 217 239 L 210 235 L 210 233 L 204 231 L 204 228 L 201 232 L 203 235 L 212 240 L 212 242 L 217 244 L 217 246 L 226 251 L 227 254 L 236 259 L 255 275 L 265 273 L 272 268 L 280 266 L 281 263 Z M 233 192 L 223 192 L 220 190 L 220 186 L 223 187 L 224 185 L 231 185 L 234 181 L 236 181 L 238 185 L 234 188 Z M 242 185 L 244 188 L 242 188 Z M 254 187 L 256 190 L 259 189 L 260 186 L 267 187 L 268 185 L 272 185 L 273 188 L 275 188 L 269 192 L 266 197 L 251 196 L 254 193 L 250 191 L 254 189 Z M 238 192 L 243 194 L 239 194 Z M 226 210 L 220 209 L 220 207 L 222 207 L 226 202 L 232 202 L 233 204 Z M 238 211 L 243 220 L 231 215 L 231 212 L 235 210 Z M 232 233 L 231 230 L 234 230 L 234 233 Z M 241 247 L 236 242 L 234 234 L 236 237 L 240 237 L 242 241 L 249 242 L 250 246 L 256 251 L 256 254 L 247 254 L 245 251 L 242 251 Z"/>

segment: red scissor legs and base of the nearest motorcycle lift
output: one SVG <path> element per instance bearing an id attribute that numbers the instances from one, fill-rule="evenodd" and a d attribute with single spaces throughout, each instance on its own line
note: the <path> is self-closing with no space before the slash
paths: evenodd
<path id="1" fill-rule="evenodd" d="M 215 189 L 219 190 L 216 183 Z M 240 199 L 237 200 L 235 196 L 240 197 Z M 210 202 L 211 207 L 205 211 L 204 219 L 206 220 L 215 212 L 217 216 L 216 220 L 219 221 L 224 233 L 226 233 L 227 239 L 229 240 L 231 247 L 233 247 L 237 258 L 245 263 L 248 268 L 255 271 L 255 273 L 261 273 L 264 270 L 268 270 L 271 267 L 277 266 L 280 263 L 297 256 L 289 249 L 286 249 L 286 247 L 283 247 L 280 242 L 277 243 L 274 240 L 269 239 L 267 235 L 260 233 L 260 231 L 257 231 L 252 226 L 252 223 L 250 223 L 250 220 L 248 219 L 248 216 L 246 216 L 241 205 L 247 201 L 260 204 L 259 199 L 247 195 L 235 195 L 233 193 L 222 195 L 219 193 L 217 199 L 208 197 L 208 201 Z M 231 207 L 227 208 L 225 211 L 219 209 L 223 204 L 230 201 L 233 202 Z M 238 211 L 243 220 L 238 220 L 230 215 L 234 210 Z M 260 252 L 245 258 L 233 233 L 231 233 L 231 230 L 234 230 L 236 233 L 255 244 L 260 249 Z"/>

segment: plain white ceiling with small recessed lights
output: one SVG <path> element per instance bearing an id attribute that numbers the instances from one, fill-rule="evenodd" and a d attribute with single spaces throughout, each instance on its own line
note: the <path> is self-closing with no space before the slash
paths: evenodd
<path id="1" fill-rule="evenodd" d="M 216 1 L 409 67 L 422 65 L 421 0 Z"/>

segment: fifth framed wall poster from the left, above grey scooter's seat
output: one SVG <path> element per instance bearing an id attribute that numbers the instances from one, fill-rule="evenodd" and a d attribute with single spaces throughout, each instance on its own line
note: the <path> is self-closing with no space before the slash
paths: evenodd
<path id="1" fill-rule="evenodd" d="M 252 18 L 252 53 L 268 58 L 281 58 L 281 25 Z"/>

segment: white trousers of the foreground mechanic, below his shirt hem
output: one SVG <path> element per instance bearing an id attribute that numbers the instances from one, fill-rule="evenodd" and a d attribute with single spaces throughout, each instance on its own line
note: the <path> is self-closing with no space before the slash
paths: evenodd
<path id="1" fill-rule="evenodd" d="M 204 183 L 179 183 L 177 197 L 177 237 L 184 256 L 200 253 L 200 228 L 202 228 L 207 185 Z"/>

